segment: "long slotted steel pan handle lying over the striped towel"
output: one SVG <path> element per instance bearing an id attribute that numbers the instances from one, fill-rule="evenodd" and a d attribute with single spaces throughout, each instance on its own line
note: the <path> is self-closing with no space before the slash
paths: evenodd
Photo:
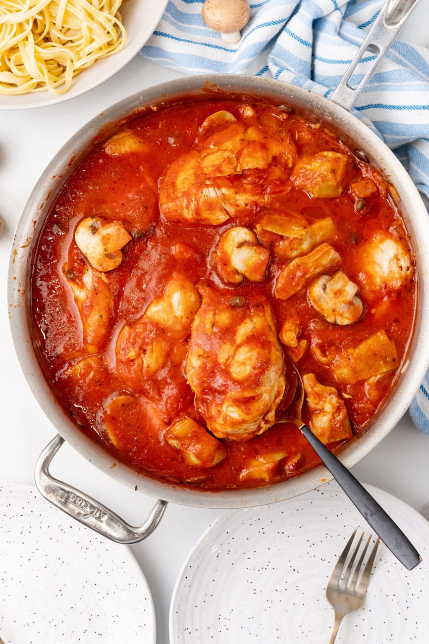
<path id="1" fill-rule="evenodd" d="M 330 100 L 349 111 L 354 107 L 367 81 L 369 81 L 378 67 L 379 62 L 385 57 L 398 33 L 419 2 L 420 0 L 387 0 L 367 33 L 367 37 L 358 49 L 356 56 L 349 65 L 349 68 L 347 68 L 338 86 L 329 97 Z M 349 85 L 351 75 L 358 66 L 363 54 L 368 49 L 373 50 L 377 54 L 376 58 L 371 62 L 367 73 L 359 82 L 358 86 L 352 88 Z"/>

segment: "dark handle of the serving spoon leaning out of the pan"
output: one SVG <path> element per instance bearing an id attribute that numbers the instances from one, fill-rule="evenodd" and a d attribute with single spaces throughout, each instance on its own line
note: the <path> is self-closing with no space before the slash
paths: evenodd
<path id="1" fill-rule="evenodd" d="M 349 470 L 343 466 L 342 462 L 331 454 L 322 441 L 309 430 L 307 425 L 300 426 L 300 431 L 302 431 L 313 450 L 334 476 L 336 482 L 345 491 L 347 497 L 367 520 L 374 532 L 377 533 L 383 544 L 387 545 L 390 552 L 408 570 L 415 568 L 421 562 L 421 556 L 394 520 L 360 484 L 358 479 L 354 478 Z"/>

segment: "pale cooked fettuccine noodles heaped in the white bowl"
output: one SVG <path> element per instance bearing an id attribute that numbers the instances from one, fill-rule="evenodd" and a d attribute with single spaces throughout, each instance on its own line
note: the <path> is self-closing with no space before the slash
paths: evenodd
<path id="1" fill-rule="evenodd" d="M 1 0 L 0 94 L 66 92 L 73 77 L 119 52 L 122 0 Z"/>

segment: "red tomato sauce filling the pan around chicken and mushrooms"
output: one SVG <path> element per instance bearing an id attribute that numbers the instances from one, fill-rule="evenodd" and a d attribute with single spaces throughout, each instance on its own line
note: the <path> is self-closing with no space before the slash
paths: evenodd
<path id="1" fill-rule="evenodd" d="M 155 379 L 140 381 L 138 378 L 133 380 L 128 374 L 124 379 L 115 347 L 124 325 L 135 323 L 155 298 L 163 296 L 174 273 L 187 276 L 194 285 L 208 280 L 217 289 L 239 292 L 243 298 L 251 299 L 254 293 L 262 294 L 273 311 L 277 332 L 291 312 L 297 315 L 299 338 L 307 341 L 307 348 L 296 366 L 301 374 L 315 374 L 320 383 L 336 388 L 345 403 L 353 434 L 367 427 L 391 392 L 404 365 L 414 323 L 414 268 L 412 277 L 400 287 L 381 285 L 379 292 L 371 292 L 370 298 L 366 296 L 369 273 L 365 272 L 365 267 L 362 268 L 360 249 L 374 240 L 379 232 L 388 231 L 388 235 L 394 236 L 413 262 L 408 235 L 389 196 L 388 185 L 333 132 L 315 123 L 307 123 L 296 113 L 290 113 L 284 120 L 284 132 L 278 136 L 289 137 L 298 158 L 316 155 L 320 151 L 345 154 L 351 162 L 347 186 L 340 196 L 316 197 L 291 183 L 292 165 L 282 178 L 278 192 L 274 191 L 269 196 L 269 209 L 276 213 L 297 213 L 309 223 L 332 218 L 334 234 L 327 243 L 340 255 L 340 269 L 360 287 L 358 295 L 363 301 L 363 314 L 357 322 L 345 326 L 329 323 L 309 302 L 307 284 L 286 300 L 273 295 L 278 275 L 290 261 L 275 251 L 279 236 L 274 233 L 268 233 L 263 241 L 260 238 L 258 241 L 270 252 L 263 281 L 257 283 L 244 279 L 232 285 L 219 278 L 213 254 L 221 235 L 232 226 L 255 230 L 268 211 L 264 169 L 253 170 L 249 176 L 255 194 L 265 195 L 265 205 L 253 205 L 246 211 L 244 220 L 242 216 L 231 217 L 221 225 L 201 225 L 168 221 L 160 214 L 158 190 L 170 164 L 196 146 L 198 129 L 206 117 L 216 111 L 227 110 L 239 118 L 238 108 L 243 102 L 238 98 L 189 101 L 132 118 L 127 128 L 141 139 L 141 149 L 109 155 L 100 144 L 89 153 L 57 196 L 46 217 L 33 259 L 34 344 L 46 379 L 64 412 L 71 415 L 77 426 L 101 444 L 114 459 L 151 477 L 201 489 L 272 484 L 313 468 L 318 459 L 300 431 L 289 423 L 272 426 L 261 435 L 243 442 L 221 439 L 227 455 L 208 468 L 191 466 L 181 452 L 165 440 L 165 431 L 183 410 L 191 413 L 192 418 L 205 428 L 205 419 L 187 383 L 184 363 L 165 377 L 158 374 Z M 254 100 L 249 103 L 256 113 L 264 107 Z M 262 115 L 260 118 L 269 117 Z M 376 191 L 358 198 L 349 186 L 365 178 L 374 182 Z M 288 186 L 287 191 L 283 189 L 284 185 Z M 104 274 L 113 308 L 107 333 L 94 351 L 88 350 L 82 341 L 82 323 L 64 273 L 64 266 L 72 267 L 67 270 L 69 279 L 74 279 L 76 267 L 84 270 L 87 264 L 86 257 L 75 243 L 74 234 L 78 223 L 91 216 L 118 220 L 132 236 L 132 240 L 122 248 L 120 265 Z M 397 356 L 394 368 L 376 379 L 374 384 L 369 384 L 369 379 L 340 383 L 330 364 L 322 363 L 318 359 L 320 353 L 315 352 L 315 347 L 320 348 L 324 355 L 336 351 L 339 346 L 356 347 L 379 331 L 394 341 Z M 188 339 L 183 341 L 185 347 Z M 288 365 L 291 360 L 289 350 L 282 346 L 282 351 Z M 69 377 L 69 366 L 87 355 L 94 355 L 96 359 L 86 363 L 78 378 Z M 285 369 L 288 374 L 288 369 Z M 213 377 L 215 379 L 215 372 Z M 287 390 L 288 386 L 286 395 Z M 115 445 L 106 432 L 104 411 L 109 401 L 118 395 L 132 398 L 127 399 L 120 413 L 112 415 Z M 147 406 L 147 401 L 154 402 L 154 406 Z M 304 408 L 304 419 L 311 423 L 307 408 Z M 336 450 L 343 443 L 344 440 L 340 440 L 329 446 Z M 286 453 L 288 458 L 283 457 L 272 468 L 266 468 L 261 477 L 242 476 L 252 462 L 271 453 Z"/>

